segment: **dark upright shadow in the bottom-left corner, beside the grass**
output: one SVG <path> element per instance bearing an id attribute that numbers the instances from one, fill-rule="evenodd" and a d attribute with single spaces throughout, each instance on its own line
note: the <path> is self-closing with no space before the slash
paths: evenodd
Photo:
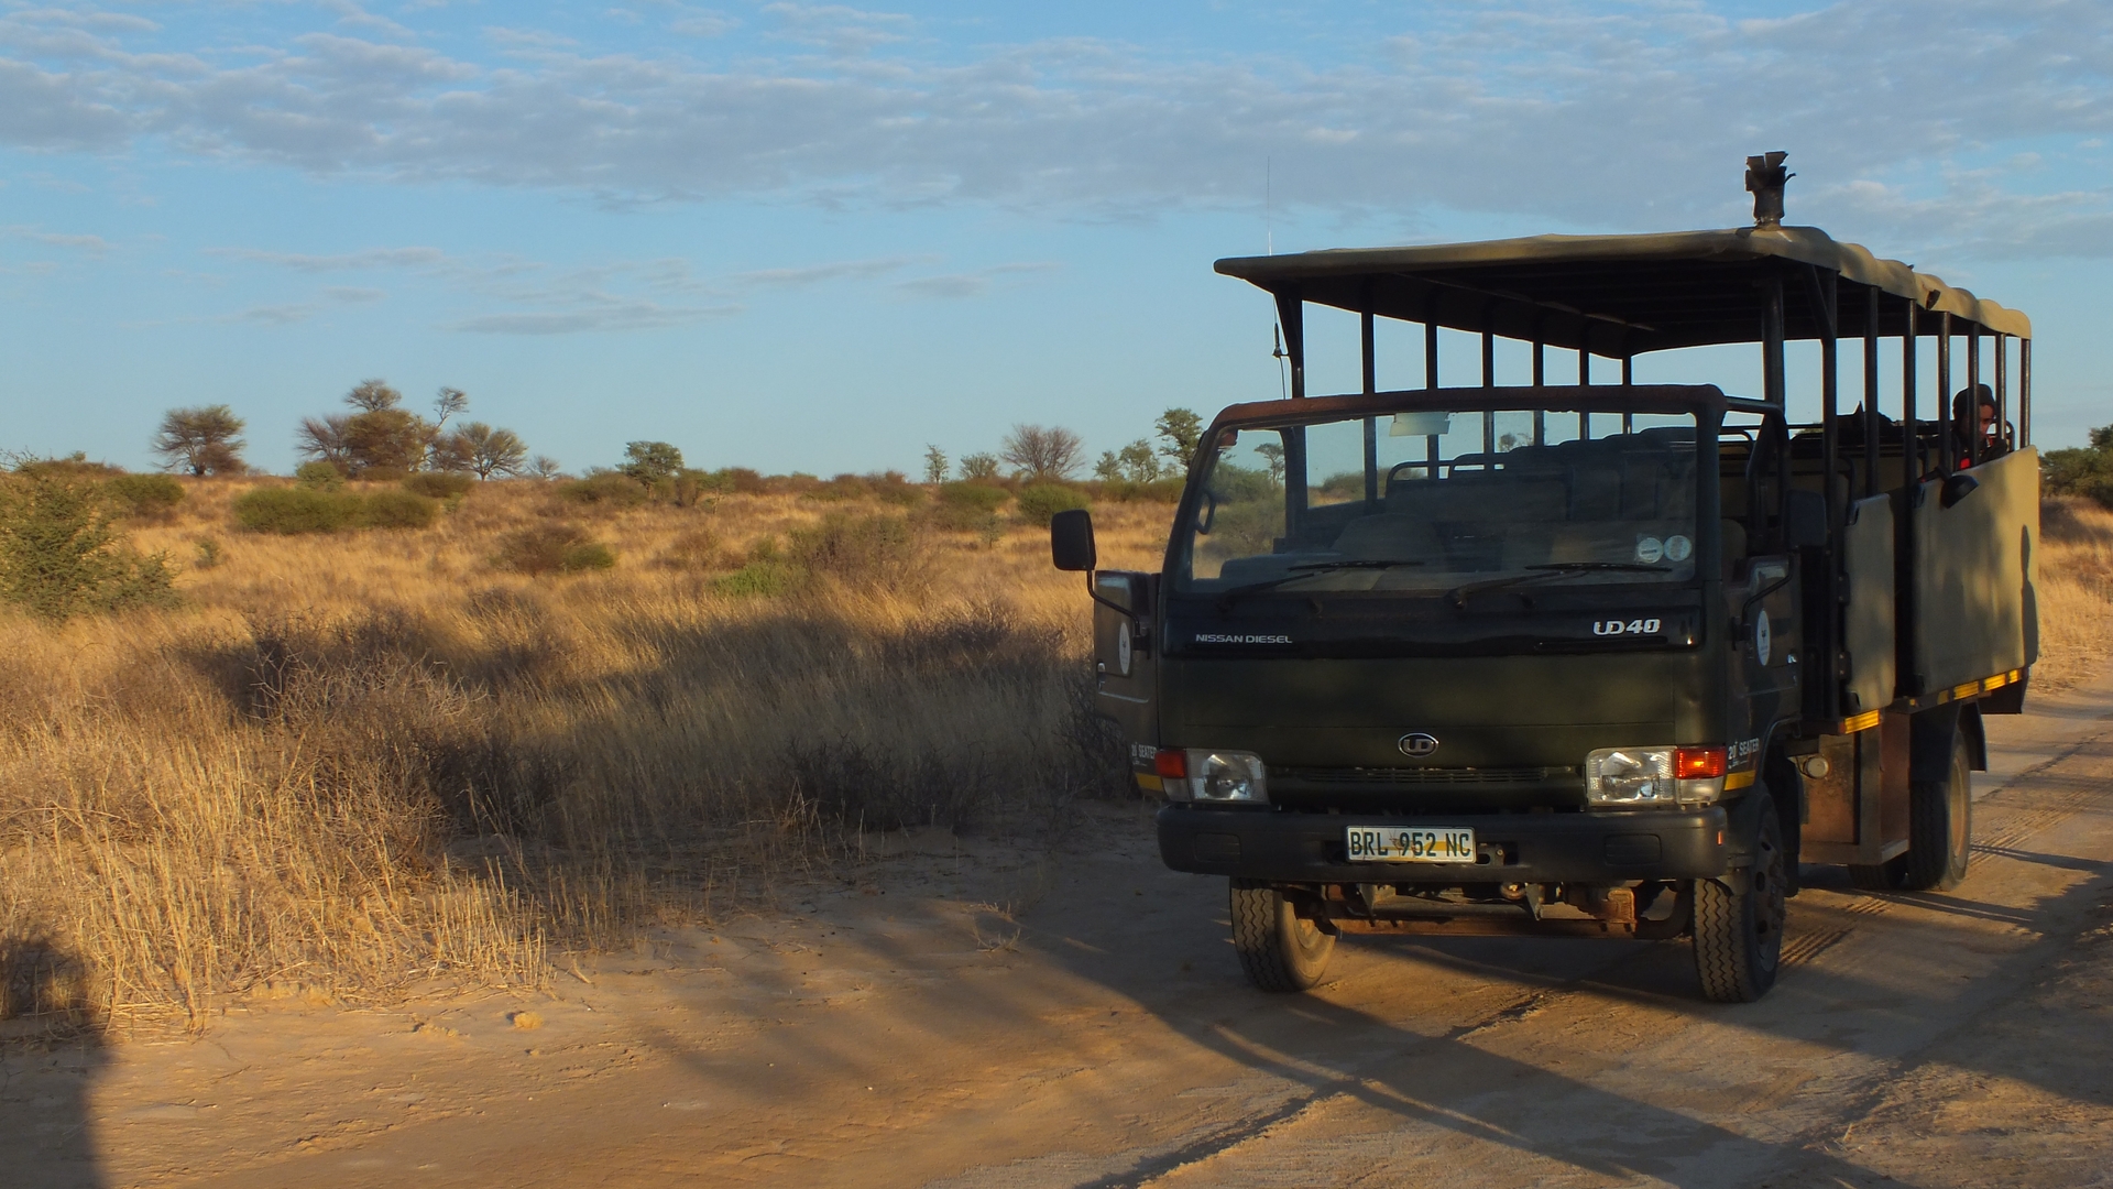
<path id="1" fill-rule="evenodd" d="M 0 1151 L 8 1185 L 99 1189 L 89 1090 L 106 1064 L 87 965 L 40 935 L 0 935 Z"/>

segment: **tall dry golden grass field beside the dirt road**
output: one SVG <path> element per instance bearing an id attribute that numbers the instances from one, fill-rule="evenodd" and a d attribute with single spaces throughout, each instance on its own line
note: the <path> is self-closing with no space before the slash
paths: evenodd
<path id="1" fill-rule="evenodd" d="M 1044 829 L 1122 789 L 1088 603 L 1027 525 L 733 597 L 767 542 L 900 510 L 594 514 L 522 480 L 425 531 L 275 537 L 232 529 L 249 482 L 186 487 L 133 525 L 182 607 L 0 618 L 0 1018 L 535 984 L 551 946 L 721 912 L 866 831 Z M 1097 508 L 1103 565 L 1156 567 L 1168 512 Z M 494 563 L 551 523 L 617 567 Z M 2113 645 L 2113 514 L 2050 501 L 2039 597 L 2054 690 Z"/>

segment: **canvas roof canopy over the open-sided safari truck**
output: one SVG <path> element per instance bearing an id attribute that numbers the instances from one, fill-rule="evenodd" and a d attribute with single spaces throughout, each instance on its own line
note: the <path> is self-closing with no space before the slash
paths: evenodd
<path id="1" fill-rule="evenodd" d="M 1792 264 L 1792 269 L 1783 269 Z M 1633 355 L 1705 343 L 1758 343 L 1766 271 L 1783 273 L 1783 332 L 1817 339 L 1821 322 L 1805 269 L 1840 273 L 1836 332 L 1864 334 L 1868 290 L 1912 298 L 1921 334 L 1938 313 L 1999 334 L 2033 336 L 2028 317 L 1971 292 L 1843 243 L 1817 226 L 1669 231 L 1657 235 L 1534 235 L 1420 248 L 1348 248 L 1287 256 L 1234 256 L 1228 277 L 1272 294 L 1380 317 L 1494 330 L 1597 355 Z M 1878 334 L 1900 334 L 1906 309 L 1878 303 Z"/>

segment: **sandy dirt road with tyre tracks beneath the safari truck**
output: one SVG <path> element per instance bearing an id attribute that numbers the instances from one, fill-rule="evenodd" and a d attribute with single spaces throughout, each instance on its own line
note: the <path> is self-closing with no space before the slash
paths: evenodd
<path id="1" fill-rule="evenodd" d="M 1048 857 L 913 838 L 547 996 L 17 1047 L 0 1183 L 2113 1185 L 2107 690 L 1993 719 L 1955 895 L 1809 867 L 1758 1005 L 1680 941 L 1354 939 L 1266 996 L 1124 808 Z"/>

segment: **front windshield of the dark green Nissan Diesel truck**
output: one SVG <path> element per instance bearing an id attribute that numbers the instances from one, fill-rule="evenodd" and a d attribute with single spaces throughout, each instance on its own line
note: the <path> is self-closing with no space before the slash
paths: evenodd
<path id="1" fill-rule="evenodd" d="M 1695 578 L 1695 417 L 1411 410 L 1219 438 L 1177 588 L 1475 597 Z"/>

